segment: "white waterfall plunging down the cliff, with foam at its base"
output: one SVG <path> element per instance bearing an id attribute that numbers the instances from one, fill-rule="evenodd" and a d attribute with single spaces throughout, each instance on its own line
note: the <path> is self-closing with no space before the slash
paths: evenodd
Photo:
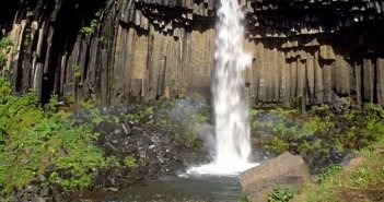
<path id="1" fill-rule="evenodd" d="M 216 36 L 216 82 L 212 86 L 216 118 L 216 156 L 211 164 L 193 167 L 188 174 L 236 175 L 255 166 L 251 154 L 249 122 L 242 97 L 245 69 L 252 56 L 244 51 L 244 20 L 237 0 L 221 0 Z"/>

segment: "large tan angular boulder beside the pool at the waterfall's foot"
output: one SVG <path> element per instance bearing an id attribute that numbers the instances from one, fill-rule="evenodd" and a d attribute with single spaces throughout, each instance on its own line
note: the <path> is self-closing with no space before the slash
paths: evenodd
<path id="1" fill-rule="evenodd" d="M 240 174 L 240 183 L 251 202 L 266 201 L 274 186 L 299 190 L 310 180 L 307 164 L 301 156 L 288 152 Z"/>

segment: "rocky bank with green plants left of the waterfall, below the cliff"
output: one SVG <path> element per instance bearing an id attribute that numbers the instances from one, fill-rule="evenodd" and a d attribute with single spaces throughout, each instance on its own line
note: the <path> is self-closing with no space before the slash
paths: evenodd
<path id="1" fill-rule="evenodd" d="M 198 102 L 95 107 L 54 96 L 43 109 L 33 92 L 14 96 L 3 79 L 0 90 L 1 201 L 116 192 L 210 161 L 197 134 L 209 109 Z"/>

